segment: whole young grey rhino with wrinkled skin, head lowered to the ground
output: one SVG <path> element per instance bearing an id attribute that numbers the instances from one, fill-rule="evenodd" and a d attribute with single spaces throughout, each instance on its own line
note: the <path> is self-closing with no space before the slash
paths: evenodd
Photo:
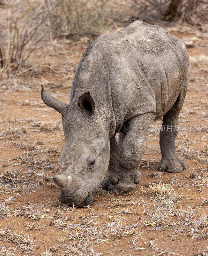
<path id="1" fill-rule="evenodd" d="M 61 173 L 53 177 L 61 189 L 60 202 L 90 204 L 107 169 L 104 189 L 134 189 L 149 125 L 162 116 L 158 170 L 182 172 L 185 164 L 175 150 L 177 132 L 170 125 L 178 123 L 188 79 L 185 45 L 160 26 L 135 21 L 88 45 L 72 82 L 70 104 L 42 87 L 43 101 L 62 115 Z"/>

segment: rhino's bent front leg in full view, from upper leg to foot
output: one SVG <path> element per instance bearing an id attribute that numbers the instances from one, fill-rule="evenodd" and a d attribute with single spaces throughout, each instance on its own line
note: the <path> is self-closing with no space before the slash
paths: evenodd
<path id="1" fill-rule="evenodd" d="M 118 161 L 109 170 L 109 181 L 118 190 L 130 191 L 141 180 L 138 165 L 145 153 L 149 138 L 149 125 L 153 124 L 153 113 L 130 119 L 128 132 L 123 139 Z"/>

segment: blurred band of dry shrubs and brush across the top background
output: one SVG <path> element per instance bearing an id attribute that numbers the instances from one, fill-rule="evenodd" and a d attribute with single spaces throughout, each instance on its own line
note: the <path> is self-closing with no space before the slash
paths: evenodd
<path id="1" fill-rule="evenodd" d="M 64 39 L 89 43 L 134 20 L 205 31 L 207 7 L 206 0 L 0 0 L 0 72 L 19 76 L 43 66 Z M 44 61 L 34 61 L 38 55 Z"/>

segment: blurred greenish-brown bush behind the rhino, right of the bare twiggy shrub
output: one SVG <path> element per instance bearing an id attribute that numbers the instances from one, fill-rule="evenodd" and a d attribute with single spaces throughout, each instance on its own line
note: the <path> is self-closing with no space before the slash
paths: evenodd
<path id="1" fill-rule="evenodd" d="M 51 16 L 55 37 L 98 36 L 110 20 L 108 0 L 64 0 Z"/>

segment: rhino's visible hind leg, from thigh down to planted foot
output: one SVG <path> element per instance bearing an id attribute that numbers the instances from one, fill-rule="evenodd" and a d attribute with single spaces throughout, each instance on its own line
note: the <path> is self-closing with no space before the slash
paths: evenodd
<path id="1" fill-rule="evenodd" d="M 185 93 L 181 92 L 173 107 L 163 116 L 160 130 L 160 149 L 162 158 L 158 166 L 160 172 L 177 173 L 186 168 L 185 163 L 176 154 L 178 115 L 182 109 Z"/>

